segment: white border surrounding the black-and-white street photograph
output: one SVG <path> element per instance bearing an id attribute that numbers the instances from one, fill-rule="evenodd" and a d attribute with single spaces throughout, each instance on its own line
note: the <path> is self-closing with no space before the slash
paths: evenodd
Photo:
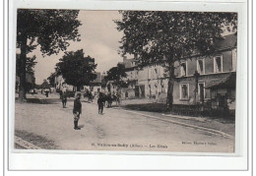
<path id="1" fill-rule="evenodd" d="M 205 3 L 208 2 L 208 3 Z M 174 11 L 228 11 L 238 12 L 238 44 L 237 44 L 237 91 L 247 92 L 247 2 L 236 0 L 236 3 L 210 3 L 202 2 L 142 2 L 142 1 L 82 1 L 77 0 L 20 0 L 10 1 L 9 16 L 9 80 L 14 79 L 14 49 L 15 48 L 15 23 L 17 7 L 23 8 L 66 8 L 66 9 L 88 9 L 88 10 L 174 10 Z M 218 2 L 224 2 L 219 0 Z M 230 2 L 230 1 L 229 1 Z M 243 3 L 238 3 L 243 2 Z M 13 123 L 14 111 L 14 83 L 9 82 L 9 124 Z M 171 170 L 194 170 L 194 169 L 219 169 L 219 170 L 241 170 L 247 168 L 247 95 L 237 93 L 236 111 L 236 156 L 177 156 L 178 154 L 189 155 L 189 153 L 176 153 L 177 155 L 113 155 L 108 154 L 53 154 L 53 153 L 12 153 L 9 152 L 10 169 L 34 170 L 34 169 L 171 169 Z M 9 127 L 12 137 L 13 126 Z M 11 139 L 11 138 L 10 138 Z M 9 145 L 12 141 L 9 141 Z M 10 146 L 11 147 L 11 146 Z M 11 151 L 11 150 L 9 150 Z M 75 151 L 74 151 L 75 152 Z M 147 154 L 147 153 L 146 153 Z M 222 154 L 222 153 L 221 153 Z M 222 154 L 224 155 L 224 154 Z M 68 157 L 67 157 L 68 156 Z M 123 164 L 123 161 L 126 164 Z M 184 165 L 184 161 L 186 161 Z M 75 164 L 71 164 L 75 163 Z"/>

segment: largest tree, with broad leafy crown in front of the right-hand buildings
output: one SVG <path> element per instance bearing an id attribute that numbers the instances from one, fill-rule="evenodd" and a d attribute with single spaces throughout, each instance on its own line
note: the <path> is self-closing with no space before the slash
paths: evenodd
<path id="1" fill-rule="evenodd" d="M 174 62 L 196 54 L 213 55 L 224 29 L 237 29 L 236 13 L 120 11 L 122 55 L 134 54 L 140 68 L 160 65 L 168 78 L 167 106 L 173 102 Z"/>

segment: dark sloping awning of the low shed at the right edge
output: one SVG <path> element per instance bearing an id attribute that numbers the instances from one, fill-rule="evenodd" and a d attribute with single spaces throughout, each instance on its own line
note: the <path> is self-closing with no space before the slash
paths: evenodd
<path id="1" fill-rule="evenodd" d="M 207 85 L 206 89 L 218 89 L 218 88 L 235 88 L 236 74 L 230 73 L 224 76 L 224 78 L 212 81 Z"/>

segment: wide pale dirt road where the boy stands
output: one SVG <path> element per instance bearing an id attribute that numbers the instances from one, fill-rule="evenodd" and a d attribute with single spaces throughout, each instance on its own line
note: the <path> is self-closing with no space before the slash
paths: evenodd
<path id="1" fill-rule="evenodd" d="M 73 102 L 16 103 L 15 130 L 53 141 L 56 149 L 72 150 L 143 150 L 232 152 L 234 141 L 194 128 L 187 128 L 133 111 L 105 108 L 97 114 L 95 103 L 82 102 L 74 130 Z"/>

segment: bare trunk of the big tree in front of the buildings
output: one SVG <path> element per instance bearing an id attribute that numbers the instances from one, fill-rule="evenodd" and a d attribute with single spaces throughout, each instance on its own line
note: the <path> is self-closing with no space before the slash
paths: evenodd
<path id="1" fill-rule="evenodd" d="M 173 85 L 174 85 L 174 67 L 171 67 L 168 72 L 169 72 L 169 80 L 168 80 L 166 106 L 170 111 L 172 111 Z"/>

